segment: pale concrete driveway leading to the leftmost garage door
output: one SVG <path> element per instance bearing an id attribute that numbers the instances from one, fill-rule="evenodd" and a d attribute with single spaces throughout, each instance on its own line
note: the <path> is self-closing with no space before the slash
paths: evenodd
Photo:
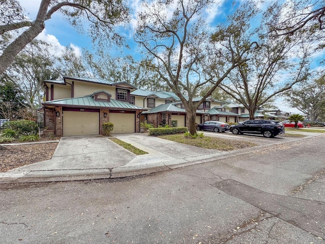
<path id="1" fill-rule="evenodd" d="M 125 165 L 136 155 L 103 136 L 62 137 L 52 159 L 15 171 L 107 169 Z"/>

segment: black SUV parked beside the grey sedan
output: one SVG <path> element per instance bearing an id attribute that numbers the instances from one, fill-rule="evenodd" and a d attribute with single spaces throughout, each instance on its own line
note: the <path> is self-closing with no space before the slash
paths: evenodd
<path id="1" fill-rule="evenodd" d="M 230 131 L 233 134 L 262 134 L 270 138 L 284 133 L 284 126 L 280 121 L 264 119 L 248 119 L 238 125 L 232 125 Z"/>

